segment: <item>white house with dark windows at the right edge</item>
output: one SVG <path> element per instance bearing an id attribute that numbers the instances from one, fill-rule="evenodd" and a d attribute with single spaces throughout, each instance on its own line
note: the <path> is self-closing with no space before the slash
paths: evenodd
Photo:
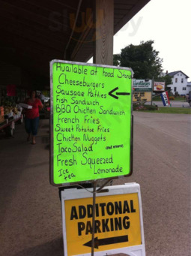
<path id="1" fill-rule="evenodd" d="M 175 95 L 178 92 L 179 95 L 187 95 L 191 91 L 190 82 L 187 81 L 189 78 L 182 71 L 175 71 L 168 73 L 172 77 L 172 84 L 169 84 L 171 92 Z"/>

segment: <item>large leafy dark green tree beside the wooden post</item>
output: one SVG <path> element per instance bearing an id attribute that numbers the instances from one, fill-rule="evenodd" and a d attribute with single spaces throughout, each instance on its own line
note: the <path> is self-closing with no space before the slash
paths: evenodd
<path id="1" fill-rule="evenodd" d="M 136 79 L 157 79 L 162 70 L 163 59 L 154 50 L 154 41 L 141 42 L 139 45 L 130 44 L 114 55 L 114 65 L 132 68 Z"/>

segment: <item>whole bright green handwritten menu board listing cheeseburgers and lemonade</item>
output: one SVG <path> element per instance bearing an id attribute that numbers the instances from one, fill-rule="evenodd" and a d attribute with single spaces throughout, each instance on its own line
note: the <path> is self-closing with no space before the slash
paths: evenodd
<path id="1" fill-rule="evenodd" d="M 130 68 L 50 62 L 52 185 L 129 176 Z"/>

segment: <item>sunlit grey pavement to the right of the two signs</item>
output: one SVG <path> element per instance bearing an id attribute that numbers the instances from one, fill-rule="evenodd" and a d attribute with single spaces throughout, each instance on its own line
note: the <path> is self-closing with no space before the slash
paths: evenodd
<path id="1" fill-rule="evenodd" d="M 190 115 L 134 114 L 134 169 L 127 181 L 141 185 L 147 255 L 189 256 Z"/>

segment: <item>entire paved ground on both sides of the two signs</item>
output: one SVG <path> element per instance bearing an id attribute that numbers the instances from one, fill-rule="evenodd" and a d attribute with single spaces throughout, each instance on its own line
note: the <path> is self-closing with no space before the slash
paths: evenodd
<path id="1" fill-rule="evenodd" d="M 190 256 L 190 115 L 134 113 L 134 170 L 114 184 L 142 190 L 148 256 Z M 58 188 L 49 185 L 49 122 L 37 145 L 23 126 L 0 137 L 0 255 L 61 256 Z"/>

